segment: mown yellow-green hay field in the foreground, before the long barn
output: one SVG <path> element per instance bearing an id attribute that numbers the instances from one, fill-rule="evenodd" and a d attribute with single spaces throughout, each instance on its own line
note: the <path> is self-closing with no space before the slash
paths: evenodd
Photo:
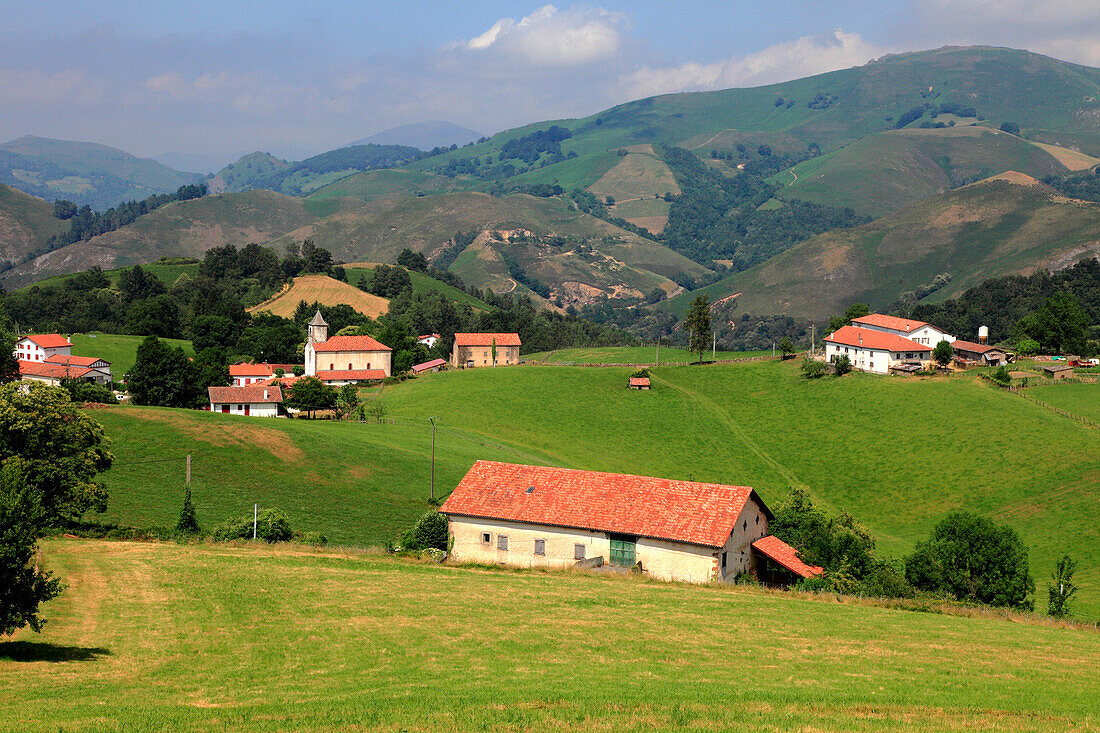
<path id="1" fill-rule="evenodd" d="M 1086 731 L 1100 634 L 734 587 L 51 540 L 3 731 Z"/>

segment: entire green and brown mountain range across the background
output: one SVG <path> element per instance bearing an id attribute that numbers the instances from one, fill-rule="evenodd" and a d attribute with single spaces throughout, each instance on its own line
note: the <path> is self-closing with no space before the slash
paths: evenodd
<path id="1" fill-rule="evenodd" d="M 0 277 L 15 286 L 96 263 L 311 237 L 348 261 L 410 247 L 471 284 L 548 306 L 657 300 L 660 289 L 673 299 L 636 305 L 639 318 L 659 320 L 705 285 L 743 314 L 823 318 L 857 298 L 935 300 L 985 277 L 1065 266 L 1100 241 L 1100 205 L 1037 180 L 1100 164 L 1100 69 L 1025 51 L 901 54 L 465 144 L 479 139 L 421 123 L 300 162 L 252 153 L 207 179 L 222 196 L 41 256 L 65 225 L 9 190 L 0 259 L 14 266 Z M 425 153 L 450 144 L 459 147 Z M 134 192 L 190 180 L 121 151 L 41 139 L 0 145 L 0 183 L 50 200 L 62 189 L 77 201 L 123 189 L 141 198 Z M 845 219 L 844 207 L 873 220 L 829 230 L 866 220 Z M 743 239 L 762 254 L 707 249 L 715 240 L 714 252 L 737 254 Z"/>

